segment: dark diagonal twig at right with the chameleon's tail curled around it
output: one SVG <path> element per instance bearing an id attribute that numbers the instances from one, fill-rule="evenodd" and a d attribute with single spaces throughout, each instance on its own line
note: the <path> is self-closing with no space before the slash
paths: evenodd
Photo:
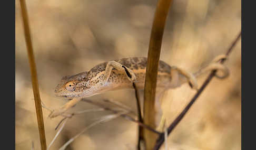
<path id="1" fill-rule="evenodd" d="M 241 38 L 241 31 L 240 34 L 235 38 L 235 40 L 232 42 L 231 46 L 229 47 L 226 56 L 228 57 L 230 52 L 232 51 L 232 49 L 234 48 L 235 44 L 237 44 L 238 40 Z M 220 61 L 220 63 L 224 63 L 225 59 L 222 59 Z M 182 120 L 182 118 L 184 117 L 184 115 L 186 114 L 186 112 L 188 112 L 188 110 L 190 109 L 190 107 L 192 106 L 192 104 L 195 102 L 196 99 L 198 99 L 199 95 L 203 92 L 203 90 L 205 89 L 206 85 L 209 84 L 209 82 L 211 81 L 211 79 L 215 76 L 216 70 L 212 71 L 211 74 L 208 76 L 208 78 L 204 81 L 202 87 L 198 90 L 198 92 L 194 95 L 194 97 L 192 98 L 192 100 L 189 102 L 188 105 L 186 105 L 186 107 L 184 108 L 184 110 L 179 114 L 178 117 L 176 117 L 176 119 L 170 124 L 170 126 L 168 127 L 168 135 L 170 135 L 170 133 L 172 132 L 172 130 L 174 129 L 174 127 L 176 125 L 178 125 L 178 123 Z M 156 141 L 155 147 L 154 149 L 159 149 L 161 147 L 161 145 L 164 142 L 164 133 L 162 133 L 161 135 L 159 135 L 159 138 Z"/>

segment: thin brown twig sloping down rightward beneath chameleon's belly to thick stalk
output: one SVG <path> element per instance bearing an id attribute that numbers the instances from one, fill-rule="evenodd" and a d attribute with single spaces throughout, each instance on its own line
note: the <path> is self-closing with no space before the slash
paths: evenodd
<path id="1" fill-rule="evenodd" d="M 107 108 L 105 105 L 103 105 L 101 103 L 98 103 L 98 102 L 95 102 L 95 101 L 91 101 L 91 100 L 88 100 L 88 99 L 82 99 L 81 101 L 87 102 L 87 103 L 90 103 L 90 104 L 93 104 L 93 105 L 100 106 L 101 108 L 103 108 L 105 110 L 108 110 L 108 111 L 111 111 L 112 113 L 119 113 L 118 111 Z M 154 130 L 152 127 L 150 127 L 148 125 L 145 125 L 142 122 L 139 122 L 139 121 L 135 120 L 133 117 L 131 117 L 127 114 L 122 114 L 121 117 L 123 117 L 126 120 L 130 120 L 132 122 L 135 122 L 135 123 L 139 124 L 140 126 L 143 126 L 144 128 L 146 128 L 147 130 L 149 130 L 151 132 L 154 132 L 154 133 L 159 134 L 159 135 L 161 134 L 161 132 L 158 132 L 158 131 Z"/>

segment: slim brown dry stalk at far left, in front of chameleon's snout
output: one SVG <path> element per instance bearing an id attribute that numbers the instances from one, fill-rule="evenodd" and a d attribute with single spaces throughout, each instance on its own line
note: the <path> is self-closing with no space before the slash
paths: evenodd
<path id="1" fill-rule="evenodd" d="M 41 99 L 40 99 L 40 93 L 39 93 L 39 88 L 38 88 L 36 65 L 35 65 L 35 59 L 34 59 L 34 54 L 33 54 L 31 35 L 30 35 L 30 30 L 29 30 L 29 25 L 28 25 L 27 8 L 26 8 L 25 0 L 20 0 L 20 3 L 21 3 L 24 34 L 25 34 L 25 40 L 26 40 L 26 46 L 27 46 L 29 67 L 30 67 L 30 72 L 31 72 L 34 100 L 35 100 L 35 108 L 36 108 L 38 130 L 39 130 L 39 135 L 40 135 L 40 143 L 41 143 L 41 148 L 43 150 L 46 150 L 43 112 L 42 112 Z"/>

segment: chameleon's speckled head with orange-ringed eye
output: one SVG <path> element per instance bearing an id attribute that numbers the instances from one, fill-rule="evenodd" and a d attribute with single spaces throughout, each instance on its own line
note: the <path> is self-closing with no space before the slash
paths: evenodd
<path id="1" fill-rule="evenodd" d="M 93 89 L 89 84 L 90 81 L 86 79 L 87 72 L 63 77 L 60 84 L 55 88 L 55 95 L 65 99 L 82 98 L 92 95 Z"/>

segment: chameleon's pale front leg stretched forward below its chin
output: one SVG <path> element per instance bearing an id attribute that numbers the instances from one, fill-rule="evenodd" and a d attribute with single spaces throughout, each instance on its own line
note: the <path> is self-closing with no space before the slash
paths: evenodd
<path id="1" fill-rule="evenodd" d="M 53 110 L 48 117 L 54 118 L 56 116 L 62 115 L 65 111 L 67 111 L 68 109 L 72 108 L 72 106 L 74 106 L 80 100 L 81 99 L 72 99 L 72 100 L 68 101 L 67 103 L 62 105 L 60 108 Z"/>

